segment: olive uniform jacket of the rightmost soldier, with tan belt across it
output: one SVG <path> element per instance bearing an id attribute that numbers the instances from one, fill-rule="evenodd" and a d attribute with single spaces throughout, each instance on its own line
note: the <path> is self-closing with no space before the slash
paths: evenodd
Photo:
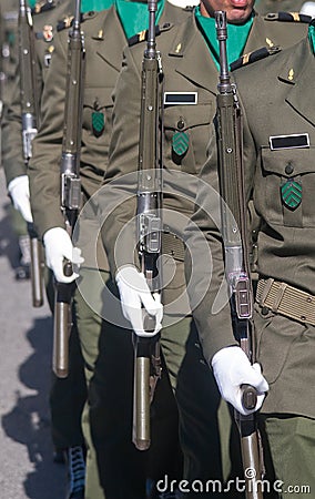
<path id="1" fill-rule="evenodd" d="M 315 60 L 307 39 L 293 50 L 287 49 L 235 73 L 246 115 L 244 165 L 247 197 L 253 198 L 262 217 L 257 259 L 260 276 L 272 277 L 313 296 L 315 111 L 309 103 L 314 78 Z M 302 145 L 301 141 L 306 138 Z M 212 153 L 202 180 L 217 187 L 215 171 L 216 159 Z M 299 187 L 297 197 L 288 206 L 283 187 L 292 185 L 292 182 Z M 200 186 L 196 201 L 209 213 L 215 211 L 204 185 Z M 189 240 L 199 246 L 203 234 L 209 241 L 214 265 L 205 298 L 194 310 L 203 350 L 211 361 L 215 352 L 234 345 L 235 340 L 226 294 L 219 293 L 224 282 L 224 269 L 217 226 L 201 210 L 195 213 L 193 222 L 201 233 L 190 227 Z M 202 272 L 199 268 L 195 276 L 200 286 Z M 206 284 L 203 284 L 204 291 Z M 314 326 L 273 313 L 258 304 L 255 305 L 254 324 L 256 357 L 270 384 L 262 410 L 314 418 Z"/>

